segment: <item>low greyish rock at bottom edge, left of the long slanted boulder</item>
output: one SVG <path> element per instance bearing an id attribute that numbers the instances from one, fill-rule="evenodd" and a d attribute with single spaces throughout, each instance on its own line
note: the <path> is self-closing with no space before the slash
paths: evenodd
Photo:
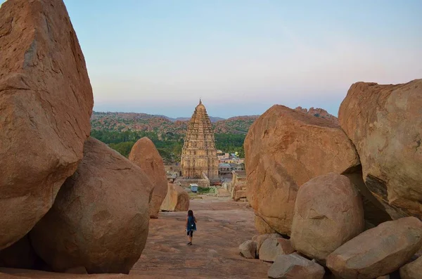
<path id="1" fill-rule="evenodd" d="M 298 254 L 279 255 L 269 268 L 268 277 L 273 279 L 322 279 L 324 268 Z"/>

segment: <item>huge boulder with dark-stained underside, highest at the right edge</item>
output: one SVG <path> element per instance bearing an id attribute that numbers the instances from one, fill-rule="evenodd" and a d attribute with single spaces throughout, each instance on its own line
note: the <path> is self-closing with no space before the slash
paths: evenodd
<path id="1" fill-rule="evenodd" d="M 352 84 L 338 118 L 362 162 L 366 186 L 390 216 L 422 218 L 422 79 Z"/>

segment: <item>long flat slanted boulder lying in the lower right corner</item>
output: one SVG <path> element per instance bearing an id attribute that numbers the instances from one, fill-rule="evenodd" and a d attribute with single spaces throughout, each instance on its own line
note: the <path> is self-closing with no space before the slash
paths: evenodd
<path id="1" fill-rule="evenodd" d="M 326 266 L 340 278 L 377 278 L 392 273 L 422 245 L 422 222 L 406 217 L 381 223 L 335 249 Z"/>

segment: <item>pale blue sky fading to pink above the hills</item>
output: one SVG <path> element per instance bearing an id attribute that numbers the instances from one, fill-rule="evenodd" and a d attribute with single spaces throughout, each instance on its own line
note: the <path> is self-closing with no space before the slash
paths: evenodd
<path id="1" fill-rule="evenodd" d="M 64 1 L 96 111 L 337 115 L 354 82 L 422 78 L 421 0 Z"/>

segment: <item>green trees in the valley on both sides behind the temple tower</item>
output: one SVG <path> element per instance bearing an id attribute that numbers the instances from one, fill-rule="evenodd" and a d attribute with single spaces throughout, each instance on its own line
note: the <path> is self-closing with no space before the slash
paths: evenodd
<path id="1" fill-rule="evenodd" d="M 129 156 L 132 146 L 139 138 L 146 136 L 153 141 L 165 164 L 179 162 L 181 148 L 184 143 L 184 138 L 181 134 L 174 134 L 172 132 L 159 134 L 155 131 L 110 131 L 107 129 L 94 129 L 91 131 L 91 136 L 108 144 L 110 148 L 113 148 L 124 157 Z M 223 150 L 226 153 L 238 152 L 240 157 L 245 156 L 243 141 L 245 141 L 245 134 L 215 134 L 215 144 L 218 150 Z"/>

